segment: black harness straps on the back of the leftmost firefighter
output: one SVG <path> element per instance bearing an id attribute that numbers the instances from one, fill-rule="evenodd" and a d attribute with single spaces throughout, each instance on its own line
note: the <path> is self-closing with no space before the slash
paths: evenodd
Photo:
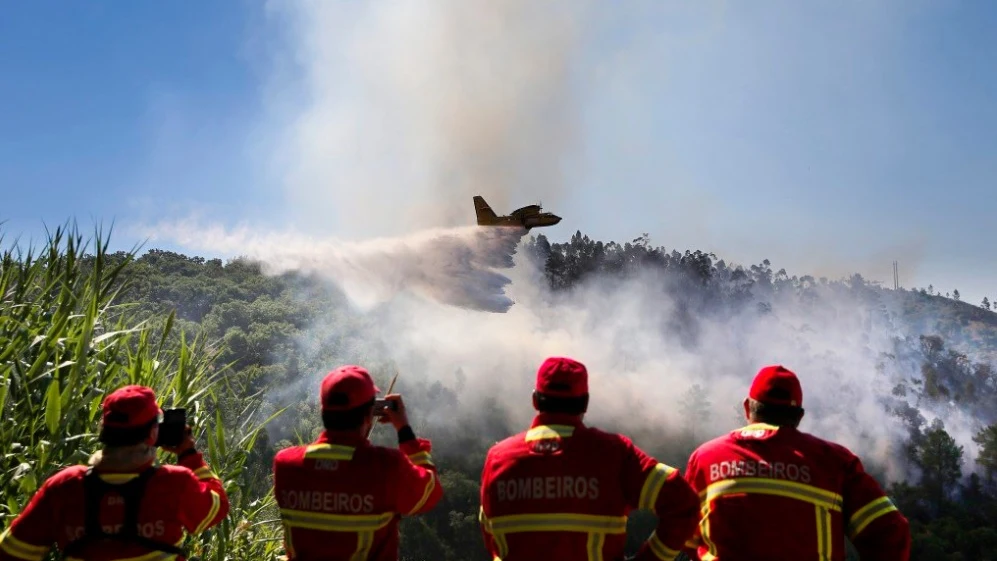
<path id="1" fill-rule="evenodd" d="M 116 540 L 136 543 L 153 551 L 185 556 L 186 553 L 182 548 L 151 540 L 138 531 L 138 514 L 139 508 L 142 506 L 142 498 L 145 495 L 145 487 L 149 478 L 155 475 L 156 469 L 155 466 L 152 466 L 127 483 L 111 484 L 101 479 L 92 466 L 87 468 L 86 475 L 83 476 L 84 535 L 63 549 L 65 555 L 78 555 L 87 543 Z M 114 534 L 105 532 L 100 525 L 100 504 L 108 491 L 119 493 L 125 503 L 125 519 L 121 525 L 121 531 Z"/>

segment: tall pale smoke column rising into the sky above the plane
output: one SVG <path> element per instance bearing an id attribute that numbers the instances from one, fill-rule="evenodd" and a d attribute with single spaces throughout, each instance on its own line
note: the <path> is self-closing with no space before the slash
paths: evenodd
<path id="1" fill-rule="evenodd" d="M 556 202 L 586 3 L 275 5 L 305 90 L 277 143 L 293 218 L 397 235 L 467 224 L 473 195 Z"/>

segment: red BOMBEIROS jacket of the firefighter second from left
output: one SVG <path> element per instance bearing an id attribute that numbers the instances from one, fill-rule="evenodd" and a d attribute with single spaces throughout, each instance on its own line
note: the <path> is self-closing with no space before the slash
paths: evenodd
<path id="1" fill-rule="evenodd" d="M 401 516 L 426 512 L 443 496 L 416 438 L 398 449 L 363 436 L 329 434 L 274 458 L 274 494 L 292 561 L 396 561 Z"/>

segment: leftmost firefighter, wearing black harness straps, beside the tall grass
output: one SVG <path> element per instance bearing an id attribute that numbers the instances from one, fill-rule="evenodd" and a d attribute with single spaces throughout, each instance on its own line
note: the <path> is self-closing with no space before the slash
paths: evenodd
<path id="1" fill-rule="evenodd" d="M 154 465 L 162 410 L 144 386 L 103 403 L 103 448 L 91 466 L 48 478 L 0 535 L 0 561 L 41 561 L 54 544 L 67 561 L 183 561 L 184 530 L 196 534 L 228 515 L 221 480 L 183 442 L 164 450 L 179 465 Z"/>

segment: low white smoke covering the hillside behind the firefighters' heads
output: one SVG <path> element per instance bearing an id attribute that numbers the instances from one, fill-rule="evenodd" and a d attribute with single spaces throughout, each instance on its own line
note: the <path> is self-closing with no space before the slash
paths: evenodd
<path id="1" fill-rule="evenodd" d="M 860 317 L 822 321 L 777 305 L 767 316 L 693 319 L 698 333 L 690 344 L 664 328 L 687 295 L 666 293 L 656 275 L 622 285 L 595 281 L 554 297 L 519 261 L 509 288 L 517 304 L 506 314 L 485 317 L 407 301 L 381 316 L 406 376 L 452 385 L 451 373 L 466 374 L 463 407 L 442 423 L 466 425 L 485 405 L 498 404 L 525 426 L 537 366 L 547 356 L 567 355 L 590 370 L 590 421 L 640 435 L 645 445 L 674 444 L 682 436 L 689 419 L 681 402 L 698 384 L 709 402 L 695 427 L 702 441 L 744 424 L 739 409 L 751 378 L 763 365 L 782 363 L 804 384 L 804 430 L 853 447 L 891 478 L 907 473 L 899 448 L 905 434 L 880 403 L 890 380 L 876 374 L 877 347 L 885 351 L 889 342 L 883 333 L 881 341 L 864 343 Z M 841 304 L 847 303 L 822 302 L 839 311 Z M 810 331 L 801 329 L 807 322 Z"/>

